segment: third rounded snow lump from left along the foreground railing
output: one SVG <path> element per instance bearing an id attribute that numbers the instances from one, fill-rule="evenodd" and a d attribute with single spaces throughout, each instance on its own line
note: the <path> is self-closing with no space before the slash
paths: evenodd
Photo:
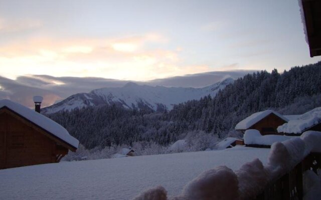
<path id="1" fill-rule="evenodd" d="M 259 159 L 254 159 L 235 171 L 239 181 L 240 199 L 251 199 L 268 183 L 268 171 Z"/>

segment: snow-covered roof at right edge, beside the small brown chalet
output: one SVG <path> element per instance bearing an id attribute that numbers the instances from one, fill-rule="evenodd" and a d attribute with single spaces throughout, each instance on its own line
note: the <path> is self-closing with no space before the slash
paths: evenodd
<path id="1" fill-rule="evenodd" d="M 321 107 L 316 107 L 304 114 L 300 115 L 297 119 L 289 120 L 277 127 L 278 132 L 296 133 L 300 134 L 305 129 L 316 125 L 321 122 Z"/>

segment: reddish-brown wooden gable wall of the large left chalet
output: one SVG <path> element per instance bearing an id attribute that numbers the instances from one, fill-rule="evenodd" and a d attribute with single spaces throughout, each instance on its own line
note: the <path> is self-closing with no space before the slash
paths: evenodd
<path id="1" fill-rule="evenodd" d="M 76 150 L 15 111 L 0 109 L 0 169 L 59 162 L 68 149 Z"/>

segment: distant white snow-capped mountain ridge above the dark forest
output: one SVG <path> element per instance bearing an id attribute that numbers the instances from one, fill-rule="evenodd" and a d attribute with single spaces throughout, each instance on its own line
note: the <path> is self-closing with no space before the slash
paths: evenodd
<path id="1" fill-rule="evenodd" d="M 233 81 L 233 78 L 226 78 L 203 88 L 149 86 L 128 82 L 123 87 L 105 87 L 94 89 L 89 93 L 71 95 L 56 104 L 43 108 L 42 113 L 51 114 L 61 110 L 106 104 L 117 104 L 129 109 L 170 110 L 174 104 L 200 99 L 209 94 L 215 96 L 220 89 Z"/>

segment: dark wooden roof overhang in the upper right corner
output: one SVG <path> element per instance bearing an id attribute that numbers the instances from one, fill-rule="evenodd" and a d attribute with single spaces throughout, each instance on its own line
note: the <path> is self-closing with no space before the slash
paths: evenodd
<path id="1" fill-rule="evenodd" d="M 310 56 L 321 55 L 321 0 L 301 0 Z"/>

